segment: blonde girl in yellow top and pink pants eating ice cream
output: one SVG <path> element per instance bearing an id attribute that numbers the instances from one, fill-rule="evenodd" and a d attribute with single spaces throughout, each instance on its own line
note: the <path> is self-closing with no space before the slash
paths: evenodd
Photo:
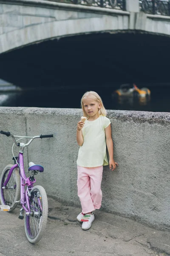
<path id="1" fill-rule="evenodd" d="M 102 203 L 102 172 L 108 165 L 106 144 L 109 153 L 109 167 L 112 171 L 118 164 L 113 159 L 111 122 L 100 96 L 93 91 L 86 92 L 81 99 L 85 122 L 77 124 L 77 143 L 80 146 L 77 159 L 77 187 L 82 212 L 77 216 L 82 229 L 88 230 L 94 221 L 93 211 Z"/>

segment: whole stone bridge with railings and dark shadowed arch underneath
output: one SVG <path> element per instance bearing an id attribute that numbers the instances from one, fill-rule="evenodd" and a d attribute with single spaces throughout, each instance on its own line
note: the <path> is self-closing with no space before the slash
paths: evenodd
<path id="1" fill-rule="evenodd" d="M 169 7 L 167 0 L 0 0 L 0 78 L 26 87 L 169 81 Z"/>

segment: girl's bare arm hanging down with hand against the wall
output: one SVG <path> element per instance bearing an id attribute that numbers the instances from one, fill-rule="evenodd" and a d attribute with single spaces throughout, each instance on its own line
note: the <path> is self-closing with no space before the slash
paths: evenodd
<path id="1" fill-rule="evenodd" d="M 113 140 L 111 137 L 111 125 L 105 128 L 105 134 L 106 134 L 106 144 L 109 152 L 109 167 L 113 171 L 114 169 L 116 169 L 116 165 L 118 166 L 118 163 L 116 163 L 113 159 Z"/>

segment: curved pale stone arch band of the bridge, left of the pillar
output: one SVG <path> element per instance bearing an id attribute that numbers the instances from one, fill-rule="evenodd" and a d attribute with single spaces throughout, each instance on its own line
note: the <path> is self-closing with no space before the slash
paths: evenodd
<path id="1" fill-rule="evenodd" d="M 125 17 L 122 19 L 125 20 L 124 25 L 122 26 L 123 22 L 121 24 L 116 23 L 115 29 L 113 28 L 113 17 L 107 15 L 89 19 L 60 20 L 24 27 L 0 35 L 0 53 L 55 38 L 125 30 L 127 29 L 127 20 Z"/>

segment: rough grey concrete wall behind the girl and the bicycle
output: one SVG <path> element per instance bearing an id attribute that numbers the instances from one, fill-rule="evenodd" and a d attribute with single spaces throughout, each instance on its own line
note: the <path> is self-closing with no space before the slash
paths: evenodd
<path id="1" fill-rule="evenodd" d="M 37 183 L 48 196 L 79 207 L 76 127 L 81 115 L 80 109 L 0 108 L 4 131 L 54 134 L 31 143 L 25 152 L 26 173 L 28 159 L 41 164 L 45 171 L 37 175 Z M 108 111 L 108 117 L 119 167 L 114 172 L 104 168 L 102 209 L 170 229 L 170 113 Z M 0 135 L 0 172 L 12 163 L 12 144 Z"/>

